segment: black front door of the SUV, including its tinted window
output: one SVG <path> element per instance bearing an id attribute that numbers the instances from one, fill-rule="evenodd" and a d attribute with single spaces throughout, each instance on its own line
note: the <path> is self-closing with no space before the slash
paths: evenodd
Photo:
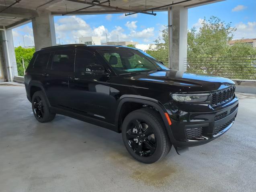
<path id="1" fill-rule="evenodd" d="M 95 53 L 76 50 L 75 75 L 70 77 L 73 109 L 83 115 L 109 122 L 109 75 Z"/>

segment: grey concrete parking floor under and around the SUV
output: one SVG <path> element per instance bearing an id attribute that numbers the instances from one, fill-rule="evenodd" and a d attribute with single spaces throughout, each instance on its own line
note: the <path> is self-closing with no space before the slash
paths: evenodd
<path id="1" fill-rule="evenodd" d="M 237 93 L 238 117 L 221 137 L 147 165 L 121 134 L 62 115 L 39 123 L 15 85 L 0 84 L 1 192 L 256 191 L 256 95 Z"/>

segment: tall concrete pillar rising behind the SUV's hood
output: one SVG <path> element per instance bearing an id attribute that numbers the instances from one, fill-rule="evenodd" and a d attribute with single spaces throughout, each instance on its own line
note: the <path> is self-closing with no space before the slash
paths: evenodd
<path id="1" fill-rule="evenodd" d="M 188 10 L 184 6 L 172 7 L 172 69 L 184 71 L 187 57 Z"/>

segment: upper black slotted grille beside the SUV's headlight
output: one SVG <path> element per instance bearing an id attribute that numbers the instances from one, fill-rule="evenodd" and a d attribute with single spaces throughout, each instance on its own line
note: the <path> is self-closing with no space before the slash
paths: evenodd
<path id="1" fill-rule="evenodd" d="M 221 91 L 216 91 L 212 93 L 212 105 L 219 105 L 232 99 L 235 93 L 235 89 L 236 87 L 232 86 L 227 89 L 223 89 Z"/>

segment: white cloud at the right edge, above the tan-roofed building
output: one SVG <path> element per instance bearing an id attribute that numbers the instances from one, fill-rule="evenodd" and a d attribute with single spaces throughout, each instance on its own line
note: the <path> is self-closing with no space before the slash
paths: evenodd
<path id="1" fill-rule="evenodd" d="M 233 39 L 241 38 L 256 38 L 256 22 L 240 22 L 236 24 L 236 32 L 234 32 Z"/>

